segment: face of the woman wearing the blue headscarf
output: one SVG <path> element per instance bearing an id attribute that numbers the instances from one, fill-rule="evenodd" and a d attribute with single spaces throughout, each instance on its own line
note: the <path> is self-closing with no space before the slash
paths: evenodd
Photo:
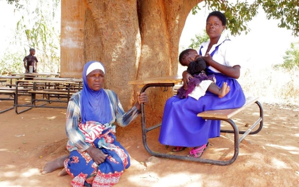
<path id="1" fill-rule="evenodd" d="M 102 70 L 94 70 L 87 75 L 88 87 L 98 91 L 103 87 L 105 75 Z"/>

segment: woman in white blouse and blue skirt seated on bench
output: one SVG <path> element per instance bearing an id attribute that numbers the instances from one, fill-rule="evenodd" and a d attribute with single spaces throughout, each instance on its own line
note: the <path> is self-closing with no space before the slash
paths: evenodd
<path id="1" fill-rule="evenodd" d="M 207 91 L 197 101 L 192 97 L 180 99 L 172 97 L 167 100 L 164 108 L 159 141 L 161 144 L 175 146 L 174 152 L 192 147 L 188 157 L 200 157 L 208 146 L 208 139 L 220 136 L 220 121 L 204 120 L 197 114 L 205 110 L 220 110 L 239 108 L 245 104 L 245 95 L 237 82 L 240 77 L 240 61 L 235 60 L 235 54 L 230 40 L 221 36 L 226 26 L 223 13 L 214 11 L 207 16 L 206 33 L 210 40 L 201 44 L 199 54 L 206 62 L 207 75 L 214 74 L 217 85 L 224 82 L 230 86 L 230 91 L 223 98 Z M 186 88 L 189 78 L 187 71 L 183 72 Z"/>

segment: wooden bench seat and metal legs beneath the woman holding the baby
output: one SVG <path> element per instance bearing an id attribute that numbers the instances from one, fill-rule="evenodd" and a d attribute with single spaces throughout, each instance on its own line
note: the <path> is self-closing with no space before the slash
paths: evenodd
<path id="1" fill-rule="evenodd" d="M 252 126 L 247 131 L 239 131 L 238 127 L 236 126 L 232 117 L 254 103 L 257 104 L 259 107 L 259 111 L 260 111 L 259 118 L 252 124 Z M 233 163 L 238 156 L 239 146 L 240 146 L 240 143 L 244 140 L 244 138 L 249 134 L 252 135 L 252 134 L 256 134 L 256 133 L 260 132 L 260 130 L 262 129 L 262 126 L 263 126 L 263 109 L 262 109 L 261 104 L 258 102 L 258 97 L 246 98 L 246 102 L 241 108 L 224 109 L 224 110 L 206 110 L 206 111 L 203 111 L 203 112 L 197 114 L 197 116 L 202 117 L 203 119 L 226 121 L 233 128 L 233 131 L 232 130 L 223 130 L 223 129 L 220 130 L 220 132 L 223 132 L 223 133 L 233 133 L 234 134 L 233 157 L 228 161 L 212 161 L 212 164 L 217 164 L 217 165 L 229 165 L 229 164 Z M 252 130 L 258 124 L 259 124 L 259 128 L 252 132 Z M 243 134 L 242 137 L 239 138 L 239 134 Z"/>

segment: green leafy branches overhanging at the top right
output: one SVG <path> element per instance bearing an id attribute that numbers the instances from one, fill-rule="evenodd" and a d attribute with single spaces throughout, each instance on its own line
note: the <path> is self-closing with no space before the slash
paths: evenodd
<path id="1" fill-rule="evenodd" d="M 229 3 L 228 0 L 205 0 L 204 7 L 212 11 L 224 12 L 227 18 L 226 27 L 230 30 L 231 35 L 240 35 L 241 32 L 247 34 L 249 28 L 247 22 L 257 15 L 258 8 L 261 6 L 267 14 L 267 19 L 280 19 L 278 27 L 292 30 L 294 36 L 299 36 L 299 1 L 289 0 L 255 0 L 252 4 L 248 1 L 235 4 Z M 192 9 L 196 14 L 200 10 L 199 6 Z"/>

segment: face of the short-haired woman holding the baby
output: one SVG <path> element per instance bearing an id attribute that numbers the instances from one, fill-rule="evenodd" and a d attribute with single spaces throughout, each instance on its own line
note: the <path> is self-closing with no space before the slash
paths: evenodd
<path id="1" fill-rule="evenodd" d="M 222 25 L 221 20 L 217 16 L 211 16 L 207 19 L 205 31 L 210 39 L 220 38 L 224 29 L 225 26 Z"/>

